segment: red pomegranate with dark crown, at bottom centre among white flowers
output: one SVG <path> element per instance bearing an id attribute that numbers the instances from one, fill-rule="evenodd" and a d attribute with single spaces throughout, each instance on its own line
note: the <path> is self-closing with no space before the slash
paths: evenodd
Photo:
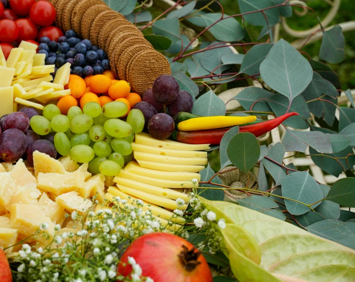
<path id="1" fill-rule="evenodd" d="M 130 276 L 133 257 L 142 269 L 142 276 L 154 282 L 212 282 L 206 259 L 194 245 L 169 233 L 150 233 L 140 236 L 124 252 L 117 272 Z M 126 264 L 124 266 L 124 263 Z"/>

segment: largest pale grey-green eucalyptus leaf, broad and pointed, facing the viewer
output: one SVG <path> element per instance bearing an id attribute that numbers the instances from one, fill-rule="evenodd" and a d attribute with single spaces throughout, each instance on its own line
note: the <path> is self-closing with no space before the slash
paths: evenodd
<path id="1" fill-rule="evenodd" d="M 308 60 L 281 39 L 260 65 L 260 74 L 269 87 L 292 101 L 311 83 L 313 71 Z"/>

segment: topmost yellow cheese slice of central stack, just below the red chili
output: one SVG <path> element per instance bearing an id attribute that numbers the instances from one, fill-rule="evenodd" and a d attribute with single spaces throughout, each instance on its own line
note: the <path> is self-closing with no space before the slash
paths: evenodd
<path id="1" fill-rule="evenodd" d="M 202 151 L 209 150 L 209 144 L 185 144 L 172 140 L 158 140 L 146 133 L 139 133 L 135 135 L 135 142 L 142 145 L 184 151 Z"/>

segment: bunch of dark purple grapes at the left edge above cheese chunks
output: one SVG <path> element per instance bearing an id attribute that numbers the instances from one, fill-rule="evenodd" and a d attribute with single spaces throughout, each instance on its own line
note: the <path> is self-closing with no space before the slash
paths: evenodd
<path id="1" fill-rule="evenodd" d="M 57 150 L 50 139 L 51 134 L 40 136 L 30 129 L 30 119 L 41 113 L 33 107 L 23 107 L 18 112 L 0 118 L 0 160 L 13 162 L 27 159 L 33 163 L 33 152 L 40 151 L 56 158 Z"/>

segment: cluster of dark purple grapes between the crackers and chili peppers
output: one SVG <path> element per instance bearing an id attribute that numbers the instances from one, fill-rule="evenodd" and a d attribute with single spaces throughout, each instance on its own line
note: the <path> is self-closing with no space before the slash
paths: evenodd
<path id="1" fill-rule="evenodd" d="M 167 139 L 175 130 L 172 116 L 178 112 L 190 113 L 192 107 L 192 96 L 179 89 L 176 79 L 171 75 L 161 75 L 154 81 L 153 88 L 143 94 L 142 102 L 136 103 L 133 109 L 142 111 L 145 129 L 154 138 Z M 166 110 L 169 114 L 164 113 Z"/>

